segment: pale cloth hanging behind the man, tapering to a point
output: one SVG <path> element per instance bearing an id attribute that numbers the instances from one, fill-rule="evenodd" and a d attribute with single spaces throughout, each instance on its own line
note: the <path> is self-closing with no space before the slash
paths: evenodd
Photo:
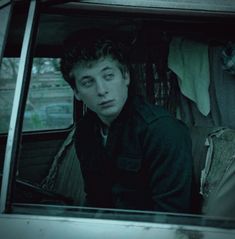
<path id="1" fill-rule="evenodd" d="M 210 112 L 208 45 L 175 37 L 169 47 L 168 67 L 177 75 L 180 91 L 202 115 Z"/>

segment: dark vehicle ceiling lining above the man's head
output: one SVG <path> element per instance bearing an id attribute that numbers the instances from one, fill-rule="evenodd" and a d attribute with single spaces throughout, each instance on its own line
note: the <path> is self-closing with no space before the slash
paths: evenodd
<path id="1" fill-rule="evenodd" d="M 74 10 L 74 9 L 73 9 Z M 13 15 L 5 56 L 19 56 L 26 21 L 24 11 Z M 235 39 L 235 13 L 231 18 L 174 16 L 164 14 L 133 14 L 114 12 L 91 12 L 87 10 L 55 11 L 54 7 L 42 9 L 39 31 L 36 41 L 35 56 L 60 57 L 64 39 L 72 32 L 83 28 L 102 27 L 107 30 L 120 31 L 122 36 L 144 35 L 142 43 L 146 46 L 156 44 L 159 35 L 181 35 L 199 39 L 218 39 L 219 41 Z M 48 51 L 48 48 L 50 51 Z"/>

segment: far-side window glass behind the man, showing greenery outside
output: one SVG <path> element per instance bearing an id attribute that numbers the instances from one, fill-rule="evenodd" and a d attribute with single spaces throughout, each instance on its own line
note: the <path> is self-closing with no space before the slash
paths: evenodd
<path id="1" fill-rule="evenodd" d="M 0 72 L 0 133 L 8 130 L 19 58 L 3 58 Z M 67 128 L 73 121 L 73 93 L 59 71 L 59 59 L 35 58 L 23 131 Z"/>

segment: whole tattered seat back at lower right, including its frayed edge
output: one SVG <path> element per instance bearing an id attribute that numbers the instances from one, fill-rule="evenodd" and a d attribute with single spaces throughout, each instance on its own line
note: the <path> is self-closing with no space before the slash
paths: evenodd
<path id="1" fill-rule="evenodd" d="M 235 130 L 194 127 L 191 136 L 201 212 L 235 218 Z"/>

